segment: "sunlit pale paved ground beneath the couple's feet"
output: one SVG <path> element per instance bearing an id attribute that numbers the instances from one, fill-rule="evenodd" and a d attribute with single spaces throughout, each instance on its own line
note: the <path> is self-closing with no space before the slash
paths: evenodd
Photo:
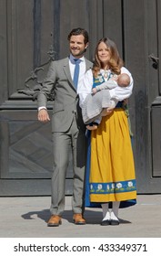
<path id="1" fill-rule="evenodd" d="M 50 197 L 0 197 L 0 238 L 161 238 L 161 195 L 138 195 L 137 204 L 119 211 L 119 226 L 100 226 L 101 209 L 86 208 L 85 226 L 72 221 L 65 198 L 63 223 L 48 228 Z"/>

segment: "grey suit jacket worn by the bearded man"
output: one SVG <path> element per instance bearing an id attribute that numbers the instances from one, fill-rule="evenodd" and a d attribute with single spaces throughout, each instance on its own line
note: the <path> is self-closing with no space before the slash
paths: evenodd
<path id="1" fill-rule="evenodd" d="M 93 63 L 86 60 L 86 70 L 92 68 Z M 71 78 L 69 59 L 52 61 L 43 84 L 37 96 L 37 107 L 46 107 L 51 91 L 55 91 L 52 115 L 52 132 L 66 132 L 76 114 L 79 129 L 85 129 L 82 112 L 79 107 L 78 95 Z"/>

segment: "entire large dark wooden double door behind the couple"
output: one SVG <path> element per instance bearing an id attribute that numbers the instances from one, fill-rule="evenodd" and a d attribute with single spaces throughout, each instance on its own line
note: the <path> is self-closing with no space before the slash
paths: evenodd
<path id="1" fill-rule="evenodd" d="M 135 80 L 129 111 L 137 191 L 161 193 L 160 12 L 161 0 L 0 1 L 0 196 L 50 195 L 51 124 L 37 122 L 32 95 L 49 60 L 68 54 L 74 27 L 89 32 L 88 59 L 99 38 L 116 41 Z M 71 155 L 67 195 L 72 176 Z"/>

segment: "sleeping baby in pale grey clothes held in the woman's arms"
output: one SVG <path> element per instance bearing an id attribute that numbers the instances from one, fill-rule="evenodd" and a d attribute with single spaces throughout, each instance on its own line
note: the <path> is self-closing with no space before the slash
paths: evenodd
<path id="1" fill-rule="evenodd" d="M 126 73 L 122 73 L 93 88 L 92 94 L 86 96 L 82 107 L 84 123 L 87 125 L 93 122 L 97 128 L 101 123 L 102 116 L 106 115 L 107 109 L 114 109 L 118 102 L 116 99 L 111 99 L 109 90 L 116 86 L 126 87 L 129 83 L 130 77 Z"/>

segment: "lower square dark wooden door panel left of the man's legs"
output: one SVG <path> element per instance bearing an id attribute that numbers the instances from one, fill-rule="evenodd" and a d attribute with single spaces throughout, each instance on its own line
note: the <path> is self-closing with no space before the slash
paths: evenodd
<path id="1" fill-rule="evenodd" d="M 53 150 L 51 123 L 36 121 L 37 112 L 1 112 L 1 178 L 51 178 Z M 72 155 L 66 178 L 71 178 Z"/>

